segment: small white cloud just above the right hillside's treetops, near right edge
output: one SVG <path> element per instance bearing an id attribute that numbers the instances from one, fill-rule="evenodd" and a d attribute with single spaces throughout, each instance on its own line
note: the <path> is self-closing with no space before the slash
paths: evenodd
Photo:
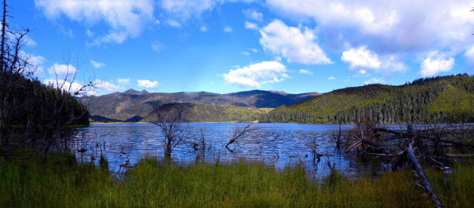
<path id="1" fill-rule="evenodd" d="M 454 58 L 447 58 L 446 54 L 431 52 L 421 64 L 419 74 L 422 77 L 431 77 L 441 72 L 447 72 L 454 66 Z"/>

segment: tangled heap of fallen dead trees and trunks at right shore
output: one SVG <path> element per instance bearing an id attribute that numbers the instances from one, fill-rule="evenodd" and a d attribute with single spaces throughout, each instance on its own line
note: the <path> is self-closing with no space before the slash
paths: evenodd
<path id="1" fill-rule="evenodd" d="M 367 117 L 369 118 L 369 117 Z M 423 166 L 429 164 L 444 169 L 452 157 L 468 158 L 472 154 L 447 154 L 445 148 L 473 148 L 463 143 L 462 138 L 474 136 L 474 126 L 453 124 L 426 124 L 425 129 L 407 125 L 406 130 L 392 130 L 381 127 L 374 120 L 359 121 L 354 129 L 348 130 L 345 137 L 347 152 L 374 155 L 393 163 L 393 169 L 409 165 L 423 181 L 423 187 L 431 196 L 436 207 L 443 207 L 428 180 Z M 449 146 L 448 146 L 449 145 Z M 453 149 L 455 150 L 455 149 Z M 462 148 L 460 149 L 462 151 Z"/>

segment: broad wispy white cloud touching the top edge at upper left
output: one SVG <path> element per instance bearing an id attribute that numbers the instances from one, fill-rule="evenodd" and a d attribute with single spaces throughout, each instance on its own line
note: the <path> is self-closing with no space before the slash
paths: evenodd
<path id="1" fill-rule="evenodd" d="M 108 34 L 89 45 L 123 43 L 128 37 L 141 34 L 144 24 L 153 19 L 152 0 L 35 0 L 37 8 L 50 19 L 65 16 L 86 25 L 105 22 Z"/>

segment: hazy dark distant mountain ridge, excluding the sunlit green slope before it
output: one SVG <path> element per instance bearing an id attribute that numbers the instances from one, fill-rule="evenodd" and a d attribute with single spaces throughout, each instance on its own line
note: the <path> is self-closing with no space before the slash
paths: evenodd
<path id="1" fill-rule="evenodd" d="M 249 90 L 225 94 L 205 91 L 151 93 L 146 90 L 138 91 L 128 89 L 124 92 L 113 92 L 97 97 L 83 97 L 79 98 L 79 100 L 89 107 L 93 121 L 119 122 L 130 121 L 130 119 L 136 121 L 136 118 L 147 117 L 152 110 L 151 105 L 197 103 L 207 105 L 232 105 L 255 109 L 275 108 L 282 105 L 292 105 L 302 102 L 319 96 L 320 94 L 321 93 L 318 92 L 290 94 L 266 90 Z M 209 109 L 208 106 L 204 105 L 194 105 L 194 107 L 196 106 Z M 220 108 L 228 109 L 229 107 L 220 106 Z M 245 109 L 242 108 L 241 110 Z M 224 110 L 220 111 L 223 112 Z M 251 111 L 257 112 L 258 110 Z"/>

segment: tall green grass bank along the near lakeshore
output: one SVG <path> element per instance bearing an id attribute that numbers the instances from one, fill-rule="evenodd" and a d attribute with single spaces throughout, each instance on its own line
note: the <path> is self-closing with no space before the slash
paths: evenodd
<path id="1" fill-rule="evenodd" d="M 429 172 L 446 207 L 474 206 L 474 170 Z M 302 165 L 167 165 L 142 160 L 124 181 L 73 156 L 0 163 L 2 207 L 431 207 L 412 172 L 314 183 Z"/>

